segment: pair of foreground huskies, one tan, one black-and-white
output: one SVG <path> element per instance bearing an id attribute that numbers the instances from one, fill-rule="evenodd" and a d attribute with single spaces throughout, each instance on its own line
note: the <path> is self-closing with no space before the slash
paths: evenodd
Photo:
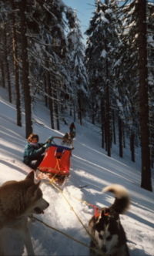
<path id="1" fill-rule="evenodd" d="M 18 230 L 28 255 L 35 255 L 28 230 L 28 217 L 32 214 L 43 214 L 49 207 L 39 188 L 41 181 L 35 184 L 34 178 L 32 171 L 25 180 L 10 180 L 0 187 L 0 237 L 2 238 L 3 227 Z M 108 191 L 115 195 L 114 203 L 110 207 L 102 208 L 98 216 L 93 216 L 89 221 L 90 254 L 129 256 L 126 234 L 119 219 L 119 214 L 124 214 L 129 208 L 129 194 L 125 187 L 118 184 L 112 184 L 102 190 Z M 0 255 L 5 255 L 1 240 Z"/>

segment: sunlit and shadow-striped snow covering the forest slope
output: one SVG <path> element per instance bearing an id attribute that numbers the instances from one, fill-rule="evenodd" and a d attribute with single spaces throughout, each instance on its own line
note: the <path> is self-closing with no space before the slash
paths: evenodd
<path id="1" fill-rule="evenodd" d="M 23 126 L 16 126 L 15 104 L 8 103 L 5 89 L 2 87 L 0 95 L 0 184 L 3 184 L 7 180 L 25 179 L 31 170 L 22 163 L 26 143 L 25 113 L 22 111 Z M 62 117 L 72 123 L 70 116 L 65 114 Z M 65 126 L 62 119 L 60 131 L 50 128 L 49 110 L 42 102 L 35 103 L 33 120 L 37 121 L 33 128 L 34 132 L 39 134 L 40 142 L 45 142 L 49 136 L 63 136 L 69 131 L 69 126 Z M 102 194 L 102 189 L 109 184 L 121 184 L 126 187 L 131 197 L 129 211 L 121 215 L 130 255 L 153 256 L 154 197 L 153 192 L 140 187 L 140 149 L 136 149 L 136 163 L 131 161 L 129 145 L 124 150 L 124 158 L 119 157 L 118 145 L 112 146 L 112 157 L 107 157 L 101 147 L 101 133 L 97 126 L 86 120 L 83 120 L 83 126 L 78 122 L 75 122 L 75 126 L 75 149 L 72 151 L 69 178 L 62 187 L 54 187 L 42 180 L 42 192 L 50 206 L 45 210 L 45 214 L 35 217 L 48 226 L 37 220 L 29 221 L 35 254 L 89 255 L 90 237 L 86 228 L 94 209 L 88 204 L 109 206 L 114 197 L 112 194 Z M 154 190 L 153 177 L 152 170 Z M 27 255 L 18 233 L 9 229 L 2 232 L 8 255 Z"/>

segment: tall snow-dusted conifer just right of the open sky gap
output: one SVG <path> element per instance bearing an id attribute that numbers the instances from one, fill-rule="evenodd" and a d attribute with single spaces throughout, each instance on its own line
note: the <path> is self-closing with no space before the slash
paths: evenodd
<path id="1" fill-rule="evenodd" d="M 112 52 L 118 43 L 118 25 L 115 2 L 95 1 L 95 12 L 90 21 L 87 48 L 85 50 L 86 66 L 89 75 L 92 104 L 95 113 L 105 102 L 105 143 L 108 156 L 111 156 L 111 82 L 112 82 Z M 96 116 L 96 115 L 95 115 Z"/>

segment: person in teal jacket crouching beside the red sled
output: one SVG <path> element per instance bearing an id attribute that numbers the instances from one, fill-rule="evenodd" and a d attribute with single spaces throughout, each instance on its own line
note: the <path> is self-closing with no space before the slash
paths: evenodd
<path id="1" fill-rule="evenodd" d="M 32 133 L 28 136 L 28 143 L 25 145 L 23 153 L 23 163 L 36 170 L 45 156 L 46 148 L 51 146 L 50 143 L 53 139 L 54 137 L 51 136 L 45 143 L 39 143 L 38 134 Z"/>

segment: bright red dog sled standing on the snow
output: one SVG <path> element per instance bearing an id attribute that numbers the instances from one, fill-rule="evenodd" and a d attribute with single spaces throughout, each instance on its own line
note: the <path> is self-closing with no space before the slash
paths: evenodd
<path id="1" fill-rule="evenodd" d="M 55 139 L 67 141 L 70 147 L 54 143 Z M 73 145 L 72 140 L 63 137 L 54 136 L 54 140 L 52 140 L 51 147 L 45 151 L 45 157 L 36 171 L 36 177 L 39 180 L 49 180 L 62 185 L 65 177 L 69 177 Z"/>

